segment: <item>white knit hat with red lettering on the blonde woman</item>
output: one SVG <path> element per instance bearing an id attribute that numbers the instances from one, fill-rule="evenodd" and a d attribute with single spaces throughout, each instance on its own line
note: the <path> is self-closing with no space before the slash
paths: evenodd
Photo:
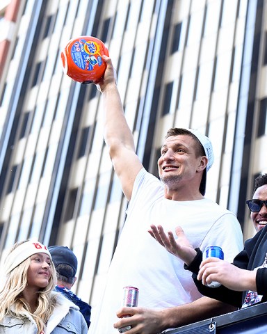
<path id="1" fill-rule="evenodd" d="M 28 259 L 28 257 L 36 253 L 45 253 L 49 255 L 51 259 L 51 254 L 49 253 L 49 250 L 47 250 L 46 246 L 40 244 L 38 241 L 26 241 L 8 254 L 5 262 L 3 263 L 4 273 L 7 275 L 10 271 L 13 271 L 15 267 Z"/>

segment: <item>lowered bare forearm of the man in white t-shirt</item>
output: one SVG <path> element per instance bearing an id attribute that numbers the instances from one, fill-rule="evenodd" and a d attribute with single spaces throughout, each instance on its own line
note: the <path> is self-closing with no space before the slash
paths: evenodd
<path id="1" fill-rule="evenodd" d="M 208 319 L 210 317 L 216 317 L 228 312 L 233 312 L 235 310 L 236 308 L 232 305 L 228 305 L 208 297 L 202 297 L 192 303 L 162 310 L 162 328 L 176 328 Z"/>

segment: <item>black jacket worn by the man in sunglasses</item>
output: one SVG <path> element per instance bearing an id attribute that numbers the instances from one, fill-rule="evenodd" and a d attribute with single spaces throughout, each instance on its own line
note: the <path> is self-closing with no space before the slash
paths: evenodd
<path id="1" fill-rule="evenodd" d="M 246 296 L 245 292 L 238 292 L 221 285 L 220 287 L 211 288 L 206 287 L 202 284 L 201 280 L 197 280 L 197 273 L 200 269 L 200 263 L 202 262 L 202 251 L 196 248 L 197 255 L 193 262 L 184 268 L 192 271 L 192 278 L 198 291 L 204 296 L 217 299 L 218 301 L 223 301 L 241 308 L 243 301 Z M 257 234 L 252 238 L 245 241 L 244 249 L 236 255 L 233 264 L 241 269 L 253 270 L 254 268 L 261 267 L 264 263 L 267 255 L 267 226 L 257 232 Z M 242 280 L 242 277 L 240 278 Z M 263 295 L 261 303 L 267 301 L 267 268 L 260 268 L 257 270 L 256 274 L 256 285 L 257 293 Z"/>

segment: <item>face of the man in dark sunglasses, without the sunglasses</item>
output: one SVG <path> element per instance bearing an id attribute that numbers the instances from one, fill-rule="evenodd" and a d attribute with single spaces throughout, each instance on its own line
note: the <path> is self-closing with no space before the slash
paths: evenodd
<path id="1" fill-rule="evenodd" d="M 267 200 L 267 184 L 260 186 L 254 193 L 253 198 L 258 200 Z M 254 228 L 257 230 L 261 230 L 267 224 L 267 208 L 266 205 L 262 205 L 259 212 L 251 212 L 250 218 L 254 225 Z"/>

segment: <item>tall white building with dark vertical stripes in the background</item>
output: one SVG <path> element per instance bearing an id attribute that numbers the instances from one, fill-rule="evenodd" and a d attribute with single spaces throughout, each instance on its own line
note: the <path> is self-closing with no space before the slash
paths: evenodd
<path id="1" fill-rule="evenodd" d="M 108 47 L 147 170 L 157 175 L 168 128 L 211 138 L 206 196 L 236 213 L 246 239 L 254 230 L 245 200 L 267 171 L 267 3 L 1 1 L 1 258 L 33 237 L 69 246 L 76 292 L 93 306 L 127 201 L 104 145 L 99 91 L 63 74 L 60 52 L 80 35 Z"/>

